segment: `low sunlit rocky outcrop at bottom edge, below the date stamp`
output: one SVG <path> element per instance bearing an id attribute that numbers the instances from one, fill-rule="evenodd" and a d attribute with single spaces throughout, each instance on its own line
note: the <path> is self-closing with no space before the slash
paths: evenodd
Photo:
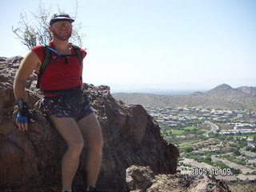
<path id="1" fill-rule="evenodd" d="M 209 176 L 155 175 L 150 167 L 145 166 L 130 166 L 126 170 L 126 182 L 130 192 L 230 192 L 228 186 Z"/>

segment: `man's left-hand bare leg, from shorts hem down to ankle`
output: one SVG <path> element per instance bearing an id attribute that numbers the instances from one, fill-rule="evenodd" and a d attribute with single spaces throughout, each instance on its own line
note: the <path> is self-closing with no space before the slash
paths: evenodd
<path id="1" fill-rule="evenodd" d="M 84 146 L 81 130 L 73 118 L 56 118 L 50 120 L 67 143 L 68 149 L 62 158 L 62 190 L 71 190 L 74 175 L 78 170 L 79 158 Z"/>

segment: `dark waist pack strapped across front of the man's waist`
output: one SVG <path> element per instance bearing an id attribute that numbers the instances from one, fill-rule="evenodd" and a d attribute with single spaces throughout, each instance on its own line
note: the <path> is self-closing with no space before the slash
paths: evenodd
<path id="1" fill-rule="evenodd" d="M 82 94 L 82 90 L 74 90 L 65 94 L 63 93 L 58 97 L 60 102 L 65 106 L 78 106 L 86 102 L 86 98 Z"/>

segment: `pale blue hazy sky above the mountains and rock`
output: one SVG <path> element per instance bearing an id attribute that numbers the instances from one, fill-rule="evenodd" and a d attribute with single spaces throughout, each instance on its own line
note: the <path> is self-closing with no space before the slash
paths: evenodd
<path id="1" fill-rule="evenodd" d="M 74 13 L 75 1 L 44 0 Z M 12 26 L 38 1 L 0 0 L 0 56 L 25 56 Z M 170 89 L 256 86 L 254 0 L 78 0 L 86 34 L 84 82 L 141 84 Z M 72 14 L 71 14 L 72 15 Z"/>

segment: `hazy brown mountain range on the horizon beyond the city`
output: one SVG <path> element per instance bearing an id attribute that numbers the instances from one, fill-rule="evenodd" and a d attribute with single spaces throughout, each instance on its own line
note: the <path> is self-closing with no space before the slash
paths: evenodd
<path id="1" fill-rule="evenodd" d="M 159 94 L 113 94 L 113 97 L 128 104 L 142 106 L 201 106 L 230 109 L 256 109 L 256 87 L 232 88 L 227 84 L 216 86 L 206 92 L 188 95 Z"/>

